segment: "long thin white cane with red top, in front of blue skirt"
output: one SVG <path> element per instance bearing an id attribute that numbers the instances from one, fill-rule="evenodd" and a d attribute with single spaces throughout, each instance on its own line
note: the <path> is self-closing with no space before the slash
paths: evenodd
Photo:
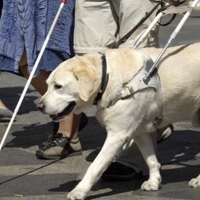
<path id="1" fill-rule="evenodd" d="M 4 136 L 3 136 L 2 140 L 1 140 L 0 151 L 1 151 L 2 147 L 3 147 L 3 144 L 4 144 L 5 140 L 6 140 L 6 137 L 7 137 L 8 133 L 9 133 L 9 131 L 10 131 L 10 128 L 11 128 L 11 126 L 12 126 L 12 124 L 13 124 L 13 121 L 14 121 L 14 119 L 15 119 L 17 113 L 18 113 L 18 110 L 19 110 L 19 108 L 20 108 L 20 106 L 21 106 L 21 104 L 22 104 L 22 101 L 23 101 L 23 99 L 24 99 L 24 97 L 25 97 L 25 95 L 26 95 L 26 92 L 27 92 L 27 90 L 28 90 L 28 88 L 29 88 L 29 85 L 30 85 L 30 83 L 31 83 L 31 80 L 32 80 L 32 78 L 33 78 L 33 76 L 34 76 L 34 74 L 35 74 L 35 71 L 36 71 L 36 69 L 37 69 L 37 67 L 38 67 L 38 64 L 39 64 L 39 62 L 40 62 L 40 60 L 41 60 L 41 57 L 42 57 L 42 55 L 43 55 L 43 53 L 44 53 L 44 50 L 45 50 L 45 48 L 46 48 L 46 46 L 47 46 L 47 43 L 48 43 L 48 41 L 49 41 L 49 39 L 50 39 L 50 37 L 51 37 L 51 34 L 52 34 L 53 30 L 54 30 L 54 27 L 55 27 L 55 25 L 56 25 L 56 23 L 57 23 L 57 21 L 58 21 L 58 18 L 59 18 L 59 16 L 60 16 L 60 14 L 61 14 L 61 12 L 62 12 L 62 9 L 63 9 L 64 5 L 66 4 L 66 2 L 67 2 L 67 0 L 62 0 L 62 2 L 61 2 L 61 4 L 60 4 L 60 7 L 59 7 L 59 9 L 58 9 L 58 12 L 57 12 L 57 14 L 56 14 L 56 16 L 55 16 L 55 18 L 54 18 L 54 20 L 53 20 L 53 23 L 52 23 L 52 25 L 51 25 L 51 28 L 50 28 L 50 30 L 49 30 L 49 32 L 48 32 L 48 34 L 47 34 L 47 37 L 46 37 L 46 39 L 45 39 L 45 41 L 44 41 L 44 43 L 43 43 L 43 45 L 42 45 L 41 51 L 40 51 L 40 53 L 39 53 L 39 55 L 38 55 L 38 57 L 37 57 L 37 59 L 36 59 L 36 61 L 35 61 L 35 64 L 34 64 L 34 66 L 33 66 L 33 69 L 32 69 L 32 71 L 31 71 L 30 76 L 29 76 L 29 78 L 28 78 L 28 80 L 27 80 L 27 83 L 26 83 L 26 85 L 25 85 L 25 87 L 24 87 L 24 90 L 23 90 L 23 92 L 22 92 L 22 94 L 21 94 L 21 96 L 20 96 L 20 99 L 19 99 L 19 101 L 18 101 L 16 107 L 15 107 L 15 110 L 14 110 L 14 113 L 13 113 L 13 115 L 12 115 L 12 118 L 10 119 L 10 122 L 9 122 L 9 124 L 8 124 L 8 127 L 7 127 L 7 129 L 6 129 L 5 133 L 4 133 Z"/>

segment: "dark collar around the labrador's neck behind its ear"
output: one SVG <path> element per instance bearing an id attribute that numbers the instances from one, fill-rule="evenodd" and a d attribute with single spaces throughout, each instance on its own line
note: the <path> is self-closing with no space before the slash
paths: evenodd
<path id="1" fill-rule="evenodd" d="M 101 97 L 106 89 L 106 86 L 108 83 L 108 77 L 109 77 L 109 75 L 107 73 L 106 56 L 104 54 L 102 54 L 101 59 L 102 59 L 101 86 L 100 86 L 99 92 L 97 93 L 97 96 L 94 99 L 94 103 L 93 103 L 94 105 L 97 105 L 98 101 L 101 99 Z"/>

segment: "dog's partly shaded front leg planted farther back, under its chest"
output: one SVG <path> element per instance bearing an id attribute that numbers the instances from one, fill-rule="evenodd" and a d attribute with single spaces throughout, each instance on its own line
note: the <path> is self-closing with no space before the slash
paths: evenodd
<path id="1" fill-rule="evenodd" d="M 143 158 L 149 168 L 149 179 L 145 181 L 141 189 L 146 191 L 158 190 L 161 186 L 160 163 L 158 162 L 153 141 L 149 133 L 135 138 L 135 142 L 141 151 Z"/>

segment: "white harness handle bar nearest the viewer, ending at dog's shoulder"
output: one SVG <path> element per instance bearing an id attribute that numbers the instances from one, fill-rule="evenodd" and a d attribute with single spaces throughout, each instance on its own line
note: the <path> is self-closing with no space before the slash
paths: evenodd
<path id="1" fill-rule="evenodd" d="M 183 16 L 182 20 L 179 22 L 178 26 L 175 28 L 174 32 L 171 34 L 169 40 L 167 41 L 167 44 L 165 45 L 165 47 L 161 51 L 160 55 L 158 56 L 158 58 L 154 62 L 153 66 L 151 67 L 151 69 L 149 70 L 149 72 L 147 73 L 147 75 L 143 78 L 144 82 L 148 81 L 151 73 L 153 73 L 154 69 L 157 67 L 157 64 L 160 61 L 160 59 L 162 58 L 163 54 L 165 53 L 165 51 L 167 50 L 167 48 L 169 47 L 169 45 L 172 43 L 172 41 L 175 39 L 175 37 L 177 36 L 177 34 L 179 33 L 179 31 L 183 27 L 184 23 L 186 22 L 186 20 L 188 19 L 188 17 L 192 13 L 192 11 L 194 10 L 194 7 L 197 5 L 198 2 L 199 2 L 199 0 L 194 0 L 194 2 L 192 3 L 190 9 L 185 13 L 185 15 Z"/>

